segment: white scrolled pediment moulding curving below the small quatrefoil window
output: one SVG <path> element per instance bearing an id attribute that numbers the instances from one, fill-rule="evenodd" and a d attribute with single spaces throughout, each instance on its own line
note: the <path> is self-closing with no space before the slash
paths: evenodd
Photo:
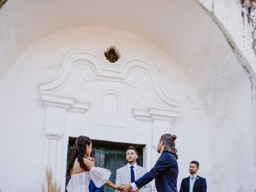
<path id="1" fill-rule="evenodd" d="M 120 68 L 116 69 L 106 66 L 102 58 L 88 51 L 73 51 L 68 54 L 54 78 L 39 82 L 40 90 L 59 92 L 68 84 L 74 68 L 78 65 L 83 65 L 80 76 L 86 82 L 100 80 L 122 83 L 136 88 L 140 87 L 143 81 L 147 81 L 152 96 L 160 106 L 177 106 L 177 102 L 164 91 L 156 68 L 147 60 L 128 58 L 122 61 Z"/>

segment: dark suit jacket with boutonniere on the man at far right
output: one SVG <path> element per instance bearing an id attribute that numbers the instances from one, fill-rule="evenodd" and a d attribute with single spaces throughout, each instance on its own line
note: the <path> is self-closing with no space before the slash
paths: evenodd
<path id="1" fill-rule="evenodd" d="M 180 192 L 189 192 L 189 179 L 190 176 L 182 179 L 182 182 L 180 184 Z M 194 182 L 193 192 L 206 192 L 206 190 L 207 186 L 205 178 L 197 176 Z"/>

